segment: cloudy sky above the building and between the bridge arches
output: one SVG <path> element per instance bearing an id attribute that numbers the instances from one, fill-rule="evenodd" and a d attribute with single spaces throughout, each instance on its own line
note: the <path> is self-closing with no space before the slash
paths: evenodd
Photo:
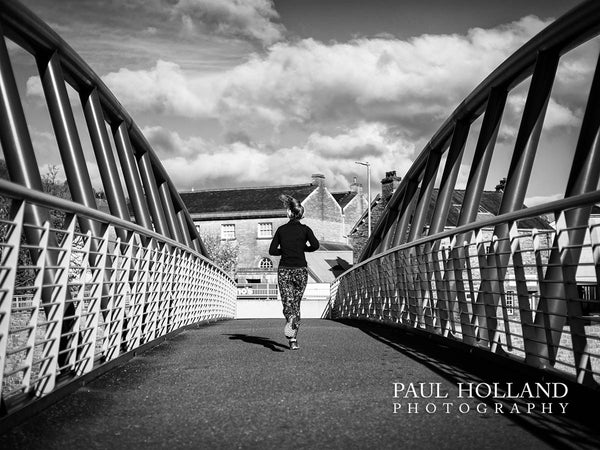
<path id="1" fill-rule="evenodd" d="M 321 173 L 341 191 L 354 177 L 366 185 L 355 161 L 369 161 L 373 195 L 494 68 L 579 3 L 21 1 L 103 79 L 178 189 L 300 184 Z M 597 49 L 561 60 L 542 137 L 552 157 L 538 158 L 531 202 L 561 194 L 545 175 L 568 166 L 560 162 L 577 137 Z M 60 166 L 35 65 L 9 50 L 39 162 Z M 526 85 L 509 97 L 488 187 L 506 176 Z M 100 187 L 91 157 L 90 172 Z"/>

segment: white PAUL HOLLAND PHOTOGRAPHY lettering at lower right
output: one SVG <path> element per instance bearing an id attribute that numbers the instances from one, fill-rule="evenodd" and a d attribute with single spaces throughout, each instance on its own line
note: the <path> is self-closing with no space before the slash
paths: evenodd
<path id="1" fill-rule="evenodd" d="M 450 398 L 442 383 L 393 383 L 394 414 L 565 414 L 564 383 L 458 383 Z M 474 404 L 473 401 L 481 400 Z"/>

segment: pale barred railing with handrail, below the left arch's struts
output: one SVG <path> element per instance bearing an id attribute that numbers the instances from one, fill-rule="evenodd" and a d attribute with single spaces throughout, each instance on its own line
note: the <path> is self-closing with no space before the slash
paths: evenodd
<path id="1" fill-rule="evenodd" d="M 194 249 L 108 214 L 24 191 L 0 180 L 3 195 L 22 200 L 13 219 L 0 220 L 0 381 L 9 412 L 23 398 L 47 395 L 182 326 L 235 317 L 235 283 Z M 27 230 L 37 228 L 23 220 L 32 203 L 68 213 L 70 225 L 52 229 L 46 223 L 38 242 L 26 241 Z M 82 217 L 104 234 L 82 233 L 76 225 Z M 129 232 L 128 241 L 120 240 L 117 228 Z M 60 235 L 57 247 L 48 246 L 50 233 Z M 36 260 L 28 257 L 31 248 L 38 251 Z M 52 280 L 43 277 L 48 251 L 59 254 Z M 42 299 L 47 290 L 50 301 Z"/>

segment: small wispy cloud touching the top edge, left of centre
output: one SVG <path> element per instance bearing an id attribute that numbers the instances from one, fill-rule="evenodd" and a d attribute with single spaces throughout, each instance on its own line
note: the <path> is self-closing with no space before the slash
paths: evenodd
<path id="1" fill-rule="evenodd" d="M 285 27 L 271 0 L 179 0 L 172 6 L 187 35 L 216 33 L 268 46 L 283 38 Z"/>

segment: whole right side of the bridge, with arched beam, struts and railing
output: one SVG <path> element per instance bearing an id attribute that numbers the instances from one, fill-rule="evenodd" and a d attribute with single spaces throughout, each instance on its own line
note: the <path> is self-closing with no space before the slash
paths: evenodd
<path id="1" fill-rule="evenodd" d="M 397 323 L 597 386 L 600 220 L 592 210 L 600 202 L 599 66 L 565 198 L 523 205 L 559 60 L 599 32 L 600 3 L 582 3 L 508 58 L 458 106 L 389 200 L 360 263 L 333 284 L 333 317 Z M 529 76 L 498 214 L 480 221 L 507 97 Z M 478 118 L 479 128 L 471 131 Z M 471 132 L 472 155 L 465 151 Z M 449 229 L 461 166 L 470 172 L 456 227 Z M 553 223 L 546 222 L 550 226 L 522 226 L 522 220 L 546 214 L 553 216 Z"/>

